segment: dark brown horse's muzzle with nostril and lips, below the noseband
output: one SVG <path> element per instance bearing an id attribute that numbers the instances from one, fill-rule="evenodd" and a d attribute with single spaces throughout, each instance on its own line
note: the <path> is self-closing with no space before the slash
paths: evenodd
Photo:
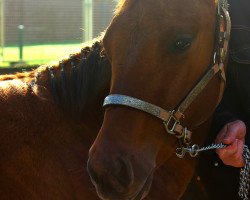
<path id="1" fill-rule="evenodd" d="M 99 159 L 98 159 L 99 158 Z M 143 169 L 134 171 L 132 162 L 126 157 L 89 157 L 87 170 L 98 196 L 103 200 L 141 200 L 151 187 L 153 173 L 144 176 Z M 141 173 L 138 173 L 141 171 Z M 153 170 L 151 170 L 152 172 Z M 135 177 L 141 174 L 142 177 Z"/>

